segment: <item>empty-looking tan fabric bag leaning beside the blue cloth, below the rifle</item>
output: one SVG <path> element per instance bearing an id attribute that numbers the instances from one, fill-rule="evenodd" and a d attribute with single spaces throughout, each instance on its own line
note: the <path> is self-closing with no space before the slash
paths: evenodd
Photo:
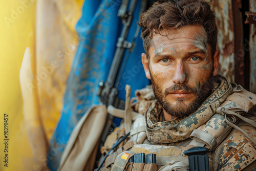
<path id="1" fill-rule="evenodd" d="M 107 115 L 105 105 L 92 106 L 83 115 L 69 138 L 58 170 L 93 170 Z"/>

